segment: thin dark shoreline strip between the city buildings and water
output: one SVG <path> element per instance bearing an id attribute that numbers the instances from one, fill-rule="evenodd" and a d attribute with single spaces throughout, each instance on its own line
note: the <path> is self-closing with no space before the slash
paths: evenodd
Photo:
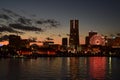
<path id="1" fill-rule="evenodd" d="M 11 55 L 11 56 L 0 56 L 0 58 L 39 58 L 39 57 L 120 57 L 119 54 L 117 55 L 110 55 L 110 54 L 55 54 L 55 55 L 48 55 L 48 54 L 32 54 L 32 55 Z"/>

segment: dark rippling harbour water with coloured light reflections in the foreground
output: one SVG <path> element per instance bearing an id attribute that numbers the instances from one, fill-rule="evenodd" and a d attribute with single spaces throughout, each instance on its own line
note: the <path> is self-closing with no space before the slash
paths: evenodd
<path id="1" fill-rule="evenodd" d="M 115 57 L 0 59 L 0 80 L 120 80 Z"/>

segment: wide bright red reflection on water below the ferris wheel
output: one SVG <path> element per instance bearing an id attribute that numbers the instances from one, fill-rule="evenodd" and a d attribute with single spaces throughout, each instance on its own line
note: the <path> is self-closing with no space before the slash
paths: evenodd
<path id="1" fill-rule="evenodd" d="M 89 75 L 90 79 L 105 80 L 106 75 L 106 58 L 93 57 L 89 58 Z"/>

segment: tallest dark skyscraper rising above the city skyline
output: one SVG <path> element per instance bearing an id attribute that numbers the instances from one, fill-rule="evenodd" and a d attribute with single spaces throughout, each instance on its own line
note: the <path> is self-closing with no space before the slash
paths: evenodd
<path id="1" fill-rule="evenodd" d="M 79 20 L 70 20 L 69 45 L 74 49 L 79 46 Z"/>

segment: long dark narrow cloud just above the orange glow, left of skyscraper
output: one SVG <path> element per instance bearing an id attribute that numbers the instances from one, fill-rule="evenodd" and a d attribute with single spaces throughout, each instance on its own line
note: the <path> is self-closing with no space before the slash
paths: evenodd
<path id="1" fill-rule="evenodd" d="M 9 24 L 9 27 L 14 29 L 24 30 L 24 31 L 42 31 L 41 28 L 37 28 L 34 26 L 24 26 L 22 24 Z"/>

